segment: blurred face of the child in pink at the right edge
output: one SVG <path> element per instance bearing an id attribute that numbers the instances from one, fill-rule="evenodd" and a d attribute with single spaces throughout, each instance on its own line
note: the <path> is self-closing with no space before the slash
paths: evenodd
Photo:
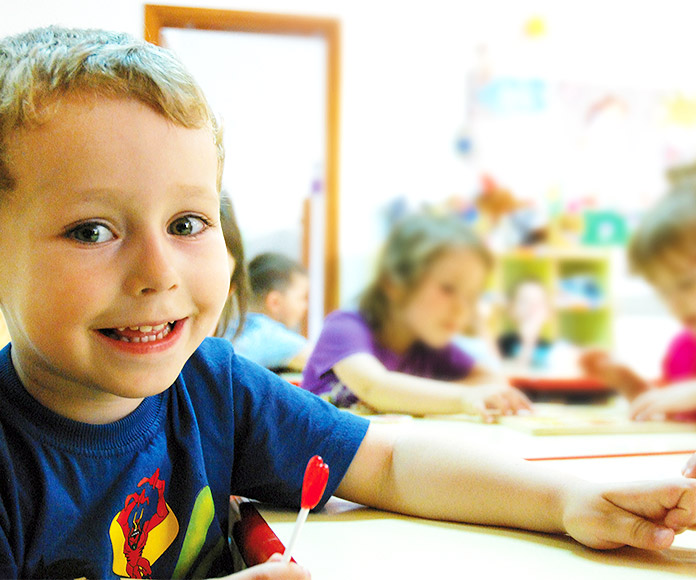
<path id="1" fill-rule="evenodd" d="M 672 314 L 696 333 L 696 255 L 693 251 L 665 252 L 649 273 L 650 282 Z"/>

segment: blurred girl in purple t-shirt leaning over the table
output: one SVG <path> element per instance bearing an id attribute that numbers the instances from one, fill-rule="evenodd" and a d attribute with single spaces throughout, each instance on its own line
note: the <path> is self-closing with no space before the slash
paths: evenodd
<path id="1" fill-rule="evenodd" d="M 415 415 L 516 413 L 517 389 L 453 344 L 472 321 L 492 265 L 460 220 L 427 214 L 398 223 L 358 312 L 327 316 L 302 387 L 339 406 Z"/>

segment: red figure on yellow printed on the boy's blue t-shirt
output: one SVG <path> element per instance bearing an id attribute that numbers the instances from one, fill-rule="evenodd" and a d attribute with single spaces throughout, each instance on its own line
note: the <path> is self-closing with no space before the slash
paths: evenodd
<path id="1" fill-rule="evenodd" d="M 164 488 L 157 469 L 140 480 L 138 491 L 126 497 L 123 509 L 111 522 L 115 574 L 151 578 L 152 564 L 179 533 L 179 522 L 164 500 Z"/>

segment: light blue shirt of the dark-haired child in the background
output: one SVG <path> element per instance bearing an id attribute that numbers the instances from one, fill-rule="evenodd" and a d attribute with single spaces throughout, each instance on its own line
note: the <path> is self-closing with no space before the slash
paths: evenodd
<path id="1" fill-rule="evenodd" d="M 304 336 L 260 312 L 249 312 L 242 332 L 233 339 L 236 330 L 236 325 L 229 328 L 225 338 L 233 340 L 238 354 L 267 369 L 286 367 L 307 345 Z"/>

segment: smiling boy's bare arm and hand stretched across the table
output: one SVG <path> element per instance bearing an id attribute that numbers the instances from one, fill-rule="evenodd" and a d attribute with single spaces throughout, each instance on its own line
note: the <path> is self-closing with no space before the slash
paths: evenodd
<path id="1" fill-rule="evenodd" d="M 373 424 L 336 495 L 437 520 L 568 533 L 593 548 L 659 550 L 696 523 L 696 481 L 608 485 L 481 448 Z"/>

